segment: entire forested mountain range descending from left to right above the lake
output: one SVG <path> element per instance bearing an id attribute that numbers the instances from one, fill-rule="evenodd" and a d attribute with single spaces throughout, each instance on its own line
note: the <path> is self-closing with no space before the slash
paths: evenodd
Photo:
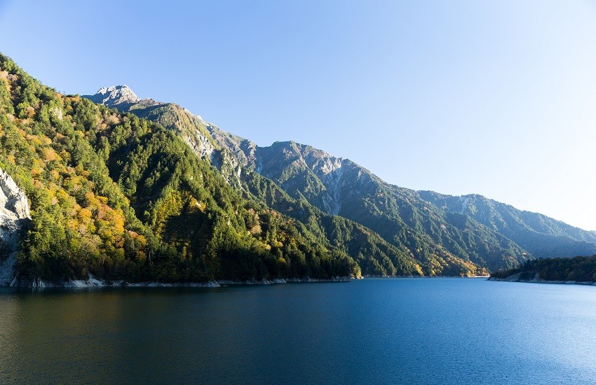
<path id="1" fill-rule="evenodd" d="M 30 219 L 3 211 L 23 225 L 3 220 L 0 262 L 16 260 L 25 284 L 473 275 L 595 244 L 484 197 L 393 186 L 311 146 L 256 146 L 126 86 L 59 94 L 4 55 L 0 145 L 2 178 L 30 207 Z"/>

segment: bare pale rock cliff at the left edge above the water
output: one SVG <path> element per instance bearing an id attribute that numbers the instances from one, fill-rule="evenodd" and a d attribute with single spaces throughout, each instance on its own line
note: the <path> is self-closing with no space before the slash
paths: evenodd
<path id="1" fill-rule="evenodd" d="M 14 279 L 20 238 L 30 219 L 25 193 L 0 169 L 0 286 Z"/>

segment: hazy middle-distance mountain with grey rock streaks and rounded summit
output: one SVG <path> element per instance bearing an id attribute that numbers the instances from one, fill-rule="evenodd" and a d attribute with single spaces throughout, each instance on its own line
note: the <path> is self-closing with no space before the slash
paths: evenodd
<path id="1" fill-rule="evenodd" d="M 414 190 L 391 186 L 351 160 L 294 142 L 257 147 L 250 167 L 290 196 L 302 196 L 326 212 L 361 223 L 417 260 L 436 263 L 438 251 L 489 269 L 515 265 L 526 251 L 466 217 L 438 209 Z M 431 267 L 432 269 L 432 267 Z"/>

